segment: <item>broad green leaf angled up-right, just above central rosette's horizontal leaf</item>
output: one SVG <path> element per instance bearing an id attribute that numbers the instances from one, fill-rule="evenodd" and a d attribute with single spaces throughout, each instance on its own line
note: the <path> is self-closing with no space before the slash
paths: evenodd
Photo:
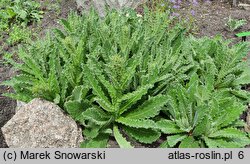
<path id="1" fill-rule="evenodd" d="M 163 95 L 158 95 L 155 97 L 150 97 L 149 100 L 144 102 L 137 109 L 129 111 L 125 115 L 126 118 L 132 119 L 144 119 L 154 117 L 159 114 L 161 108 L 167 103 L 168 97 Z"/>

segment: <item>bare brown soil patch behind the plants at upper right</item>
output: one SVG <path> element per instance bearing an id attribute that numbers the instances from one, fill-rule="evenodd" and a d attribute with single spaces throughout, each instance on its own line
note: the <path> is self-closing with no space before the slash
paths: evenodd
<path id="1" fill-rule="evenodd" d="M 241 38 L 237 38 L 235 34 L 241 31 L 250 31 L 249 10 L 232 7 L 230 3 L 220 0 L 214 0 L 211 3 L 200 3 L 200 5 L 194 9 L 195 22 L 199 27 L 198 36 L 212 37 L 220 34 L 225 39 L 233 39 L 235 42 L 240 42 Z M 188 11 L 187 8 L 184 8 L 183 10 L 186 12 Z M 245 19 L 247 20 L 247 24 L 234 32 L 230 32 L 225 25 L 229 16 L 234 19 Z"/>

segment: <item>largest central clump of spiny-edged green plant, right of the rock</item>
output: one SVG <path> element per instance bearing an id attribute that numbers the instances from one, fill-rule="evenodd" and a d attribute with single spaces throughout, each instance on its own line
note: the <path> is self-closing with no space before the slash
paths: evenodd
<path id="1" fill-rule="evenodd" d="M 85 127 L 82 147 L 107 147 L 112 135 L 120 147 L 132 147 L 123 133 L 141 143 L 160 137 L 154 117 L 167 103 L 164 93 L 192 68 L 179 51 L 183 30 L 168 32 L 167 22 L 163 13 L 110 12 L 92 29 L 99 44 L 82 65 L 92 106 L 82 112 L 66 103 Z"/>

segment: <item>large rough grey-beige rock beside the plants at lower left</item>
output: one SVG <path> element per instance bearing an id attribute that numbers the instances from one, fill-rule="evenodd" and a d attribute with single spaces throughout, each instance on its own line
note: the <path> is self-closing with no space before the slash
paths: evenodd
<path id="1" fill-rule="evenodd" d="M 79 147 L 82 131 L 57 105 L 34 99 L 22 106 L 3 127 L 10 148 Z"/>

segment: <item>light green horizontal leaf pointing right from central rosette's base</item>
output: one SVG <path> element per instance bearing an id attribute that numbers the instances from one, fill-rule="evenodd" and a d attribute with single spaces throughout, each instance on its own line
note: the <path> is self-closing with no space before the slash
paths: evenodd
<path id="1" fill-rule="evenodd" d="M 144 129 L 156 129 L 157 126 L 154 121 L 148 120 L 148 119 L 131 119 L 131 118 L 125 118 L 120 117 L 115 120 L 118 123 L 121 123 L 123 125 L 134 127 L 134 128 L 144 128 Z"/>

